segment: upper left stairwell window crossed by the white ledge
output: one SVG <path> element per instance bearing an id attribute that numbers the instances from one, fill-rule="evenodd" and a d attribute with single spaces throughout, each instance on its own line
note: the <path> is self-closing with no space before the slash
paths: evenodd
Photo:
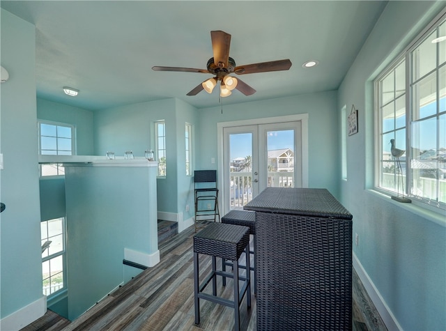
<path id="1" fill-rule="evenodd" d="M 40 155 L 73 155 L 74 127 L 63 123 L 38 121 Z M 41 176 L 59 176 L 65 174 L 61 164 L 41 164 Z"/>

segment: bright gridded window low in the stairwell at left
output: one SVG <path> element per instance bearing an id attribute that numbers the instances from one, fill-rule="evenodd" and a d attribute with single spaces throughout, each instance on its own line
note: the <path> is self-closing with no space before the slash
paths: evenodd
<path id="1" fill-rule="evenodd" d="M 43 294 L 52 295 L 66 288 L 65 282 L 65 219 L 40 222 L 42 243 Z"/>

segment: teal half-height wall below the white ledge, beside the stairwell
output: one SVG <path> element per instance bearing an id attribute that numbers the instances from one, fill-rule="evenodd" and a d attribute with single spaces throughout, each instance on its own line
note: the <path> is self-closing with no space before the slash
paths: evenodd
<path id="1" fill-rule="evenodd" d="M 122 284 L 124 248 L 157 252 L 155 176 L 155 167 L 66 167 L 70 320 Z"/>

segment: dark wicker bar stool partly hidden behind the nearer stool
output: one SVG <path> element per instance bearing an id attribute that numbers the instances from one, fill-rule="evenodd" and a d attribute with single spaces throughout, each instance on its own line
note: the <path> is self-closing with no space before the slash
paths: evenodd
<path id="1" fill-rule="evenodd" d="M 249 234 L 254 236 L 254 249 L 249 249 L 249 254 L 255 254 L 256 251 L 256 213 L 247 210 L 231 210 L 222 217 L 222 223 L 234 224 L 249 227 Z M 249 246 L 248 246 L 249 247 Z M 254 255 L 255 257 L 255 255 Z M 232 263 L 222 259 L 222 270 L 226 271 L 226 265 L 232 266 Z M 239 265 L 239 268 L 246 269 L 245 265 Z M 254 271 L 254 293 L 256 293 L 256 263 L 251 265 L 250 270 Z M 226 286 L 226 277 L 223 277 L 223 286 Z"/>

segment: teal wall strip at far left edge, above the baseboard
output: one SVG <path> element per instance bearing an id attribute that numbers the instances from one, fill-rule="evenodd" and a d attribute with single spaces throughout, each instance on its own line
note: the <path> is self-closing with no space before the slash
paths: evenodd
<path id="1" fill-rule="evenodd" d="M 1 9 L 1 318 L 43 298 L 35 57 L 34 26 Z"/>

